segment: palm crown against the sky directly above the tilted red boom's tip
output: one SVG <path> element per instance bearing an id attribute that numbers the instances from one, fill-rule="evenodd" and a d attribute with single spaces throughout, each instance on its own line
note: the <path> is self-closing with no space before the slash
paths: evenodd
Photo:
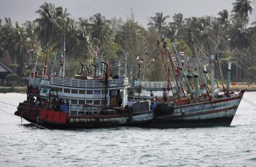
<path id="1" fill-rule="evenodd" d="M 163 16 L 163 13 L 158 12 L 156 13 L 156 16 L 150 17 L 150 22 L 148 23 L 148 26 L 151 26 L 152 28 L 156 28 L 158 30 L 158 36 L 162 34 L 162 29 L 164 27 L 164 24 L 166 25 L 166 19 L 170 18 L 169 15 Z"/>

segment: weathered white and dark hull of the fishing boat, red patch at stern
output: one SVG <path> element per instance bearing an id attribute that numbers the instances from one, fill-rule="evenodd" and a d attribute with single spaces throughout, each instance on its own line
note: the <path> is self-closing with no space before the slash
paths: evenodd
<path id="1" fill-rule="evenodd" d="M 40 109 L 30 104 L 21 103 L 15 115 L 21 116 L 31 123 L 65 128 L 229 126 L 232 123 L 241 98 L 241 96 L 234 96 L 181 106 L 162 103 L 158 104 L 154 111 L 88 116 L 72 116 L 59 111 Z"/>

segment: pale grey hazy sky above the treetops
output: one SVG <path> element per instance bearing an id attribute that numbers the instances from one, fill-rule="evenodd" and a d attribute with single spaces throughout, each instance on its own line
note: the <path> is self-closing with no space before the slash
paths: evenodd
<path id="1" fill-rule="evenodd" d="M 95 13 L 101 13 L 107 19 L 116 17 L 123 21 L 135 16 L 135 21 L 147 28 L 149 18 L 157 12 L 170 15 L 166 22 L 172 22 L 174 13 L 183 13 L 183 18 L 200 17 L 205 15 L 218 16 L 218 12 L 227 9 L 232 10 L 235 0 L 0 0 L 0 19 L 2 24 L 5 17 L 10 17 L 13 24 L 20 24 L 26 20 L 39 18 L 35 13 L 44 2 L 53 3 L 55 7 L 67 8 L 71 18 L 90 18 Z M 253 7 L 256 2 L 253 1 Z M 256 9 L 250 16 L 249 24 L 256 22 Z"/>

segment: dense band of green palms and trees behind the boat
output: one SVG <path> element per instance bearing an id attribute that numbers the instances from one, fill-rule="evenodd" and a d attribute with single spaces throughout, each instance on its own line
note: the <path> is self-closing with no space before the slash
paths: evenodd
<path id="1" fill-rule="evenodd" d="M 163 34 L 168 43 L 174 43 L 178 50 L 192 57 L 188 36 L 191 31 L 202 48 L 197 53 L 218 55 L 225 70 L 226 63 L 232 62 L 232 77 L 236 81 L 255 81 L 256 22 L 249 25 L 252 1 L 236 0 L 232 5 L 231 13 L 223 9 L 217 17 L 183 18 L 182 13 L 175 13 L 172 22 L 167 22 L 170 15 L 158 12 L 150 17 L 148 28 L 144 28 L 135 22 L 133 13 L 125 21 L 121 18 L 108 19 L 101 13 L 75 21 L 67 9 L 44 3 L 36 11 L 38 18 L 26 21 L 22 26 L 18 22 L 13 25 L 11 18 L 0 20 L 0 56 L 9 55 L 15 73 L 26 76 L 32 71 L 37 58 L 38 71 L 41 71 L 46 55 L 48 70 L 51 71 L 56 54 L 54 71 L 58 71 L 65 38 L 67 76 L 72 77 L 79 72 L 80 62 L 91 67 L 100 57 L 102 61 L 111 63 L 114 74 L 117 74 L 120 58 L 121 73 L 124 73 L 127 54 L 129 71 L 133 68 L 132 75 L 136 75 L 139 68 L 139 58 L 147 63 L 143 69 L 145 80 L 156 81 L 165 78 L 159 73 L 162 63 L 156 51 L 156 40 Z M 98 54 L 93 53 L 95 50 Z"/>

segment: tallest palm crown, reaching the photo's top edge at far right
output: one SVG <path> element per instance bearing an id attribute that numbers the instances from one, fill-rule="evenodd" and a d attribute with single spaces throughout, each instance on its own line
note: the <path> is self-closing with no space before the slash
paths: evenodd
<path id="1" fill-rule="evenodd" d="M 236 2 L 232 3 L 234 12 L 234 18 L 240 18 L 242 20 L 243 26 L 246 28 L 246 25 L 249 22 L 249 12 L 253 11 L 253 5 L 251 5 L 253 1 L 251 0 L 236 0 Z"/>

